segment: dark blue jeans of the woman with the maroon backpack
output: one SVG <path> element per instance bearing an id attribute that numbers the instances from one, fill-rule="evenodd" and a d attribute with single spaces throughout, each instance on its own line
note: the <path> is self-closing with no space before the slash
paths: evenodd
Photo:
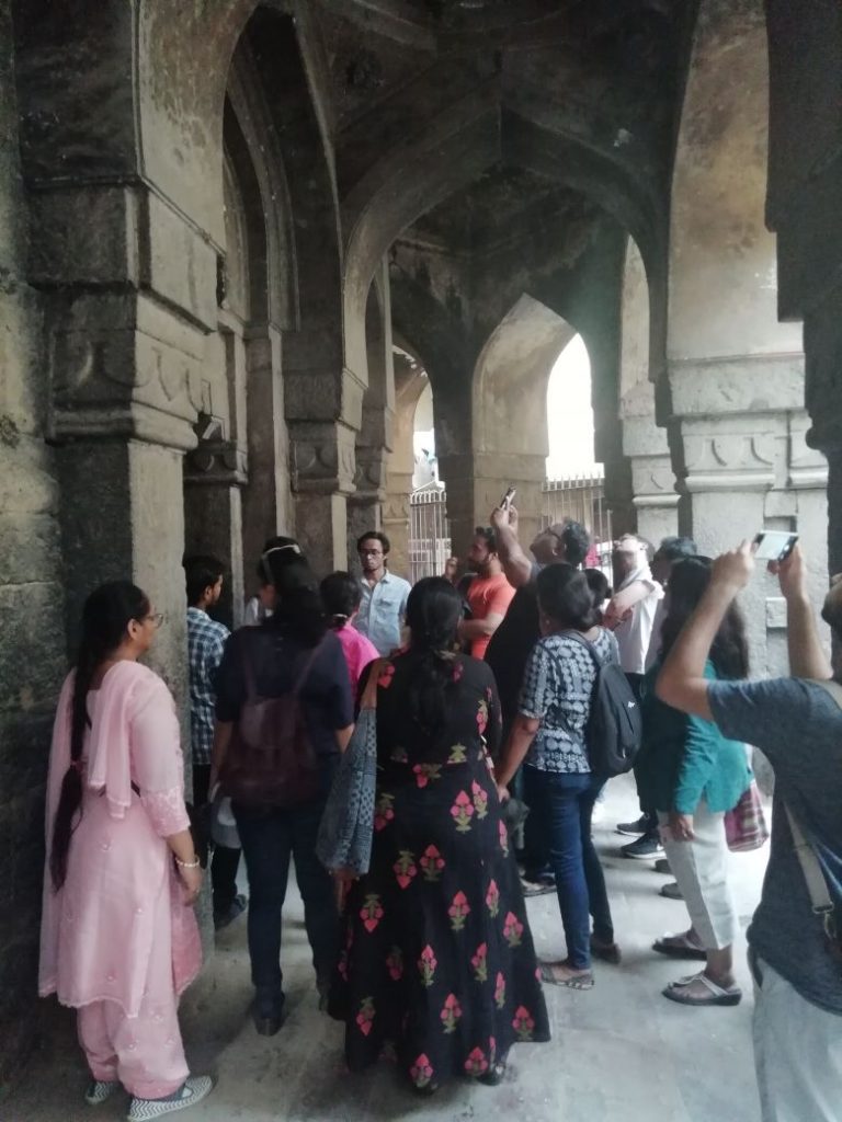
<path id="1" fill-rule="evenodd" d="M 281 912 L 290 858 L 304 901 L 304 926 L 313 951 L 317 984 L 327 987 L 339 951 L 339 916 L 333 881 L 315 856 L 324 800 L 289 809 L 253 810 L 234 804 L 248 872 L 248 954 L 258 997 L 280 1001 Z"/>

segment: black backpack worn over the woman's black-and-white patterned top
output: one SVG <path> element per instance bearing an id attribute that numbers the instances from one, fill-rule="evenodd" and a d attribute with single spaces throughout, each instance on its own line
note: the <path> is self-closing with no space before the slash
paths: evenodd
<path id="1" fill-rule="evenodd" d="M 579 632 L 565 632 L 591 655 L 596 680 L 591 695 L 591 714 L 585 726 L 588 762 L 595 775 L 622 775 L 631 770 L 640 751 L 643 720 L 640 705 L 616 662 L 603 662 L 593 643 Z"/>

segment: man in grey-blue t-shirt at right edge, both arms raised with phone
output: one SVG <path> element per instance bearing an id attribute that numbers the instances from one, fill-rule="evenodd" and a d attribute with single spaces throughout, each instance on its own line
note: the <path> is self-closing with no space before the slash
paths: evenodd
<path id="1" fill-rule="evenodd" d="M 658 678 L 674 709 L 757 745 L 775 771 L 771 854 L 748 931 L 754 975 L 754 1065 L 763 1122 L 839 1122 L 842 1087 L 842 664 L 818 641 L 806 563 L 796 546 L 769 565 L 787 605 L 793 678 L 711 681 L 705 662 L 733 599 L 754 571 L 748 542 L 719 558 Z M 842 650 L 842 578 L 822 617 Z M 791 820 L 790 820 L 791 815 Z M 799 844 L 793 822 L 804 835 Z M 809 854 L 815 862 L 807 882 Z M 818 882 L 816 884 L 816 881 Z M 834 905 L 823 913 L 815 892 Z M 835 930 L 834 930 L 835 925 Z"/>

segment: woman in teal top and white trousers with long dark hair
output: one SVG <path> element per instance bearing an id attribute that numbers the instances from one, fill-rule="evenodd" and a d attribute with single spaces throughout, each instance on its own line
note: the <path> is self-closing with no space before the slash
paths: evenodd
<path id="1" fill-rule="evenodd" d="M 736 1005 L 742 993 L 733 976 L 736 916 L 727 883 L 724 816 L 751 783 L 745 746 L 726 739 L 711 721 L 679 712 L 655 696 L 660 663 L 710 577 L 706 558 L 679 561 L 670 572 L 660 655 L 644 682 L 643 748 L 635 771 L 641 800 L 658 810 L 663 848 L 690 917 L 689 930 L 656 940 L 655 949 L 705 962 L 699 974 L 670 983 L 663 995 L 685 1005 Z M 742 679 L 748 663 L 745 625 L 732 606 L 705 677 Z"/>

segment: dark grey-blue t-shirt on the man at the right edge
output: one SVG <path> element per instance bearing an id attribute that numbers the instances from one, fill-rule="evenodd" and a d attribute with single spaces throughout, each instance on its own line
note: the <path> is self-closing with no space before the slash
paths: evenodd
<path id="1" fill-rule="evenodd" d="M 771 854 L 749 944 L 803 997 L 842 1015 L 842 967 L 812 912 L 782 807 L 842 857 L 842 709 L 798 678 L 712 682 L 708 698 L 725 736 L 756 745 L 775 769 Z"/>

